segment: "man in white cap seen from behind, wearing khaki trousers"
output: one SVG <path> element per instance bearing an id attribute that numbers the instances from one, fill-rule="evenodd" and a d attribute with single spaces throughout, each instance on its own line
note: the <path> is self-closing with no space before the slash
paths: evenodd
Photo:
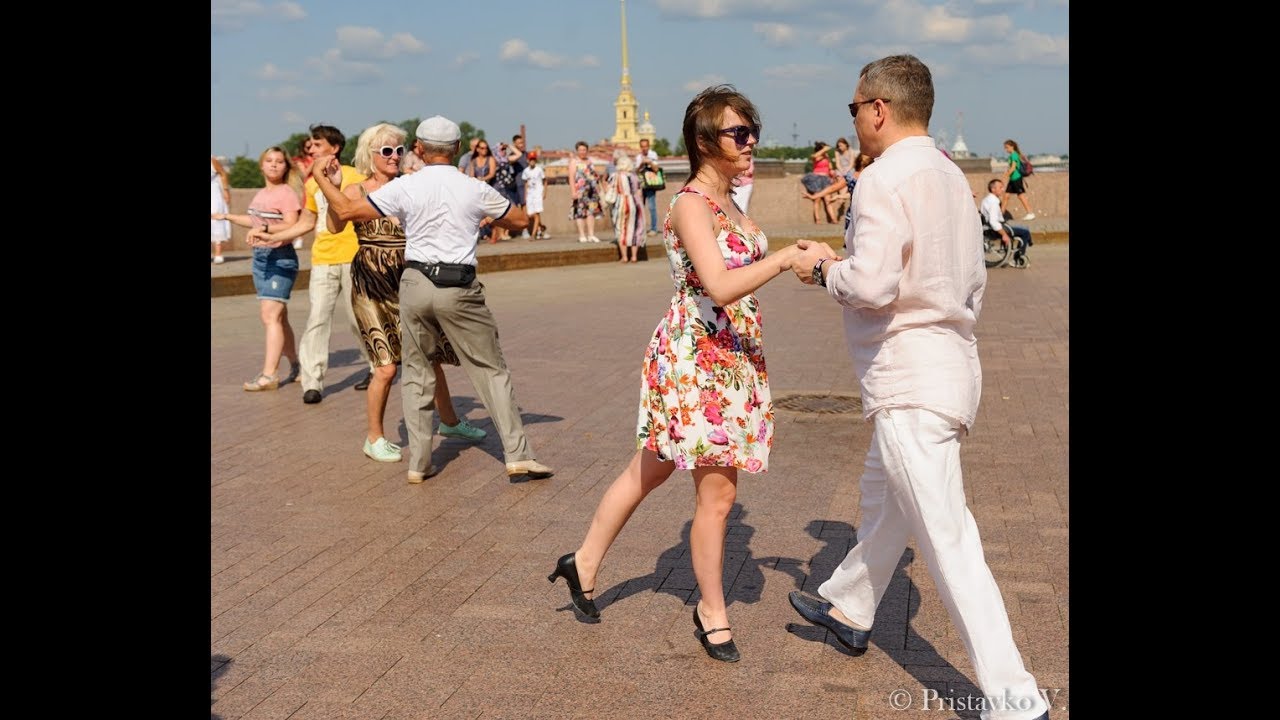
<path id="1" fill-rule="evenodd" d="M 404 368 L 401 380 L 404 425 L 408 427 L 408 482 L 434 475 L 431 433 L 435 374 L 428 357 L 439 338 L 439 323 L 453 343 L 471 384 L 493 418 L 502 438 L 507 477 L 513 483 L 552 477 L 534 459 L 525 437 L 511 372 L 498 345 L 498 325 L 476 282 L 476 240 L 485 218 L 507 229 L 525 227 L 529 218 L 493 187 L 453 167 L 462 131 L 435 115 L 417 126 L 426 165 L 401 176 L 361 200 L 344 196 L 329 179 L 334 158 L 316 158 L 312 176 L 330 208 L 346 220 L 398 218 L 404 228 L 404 273 L 401 275 L 401 336 Z"/>

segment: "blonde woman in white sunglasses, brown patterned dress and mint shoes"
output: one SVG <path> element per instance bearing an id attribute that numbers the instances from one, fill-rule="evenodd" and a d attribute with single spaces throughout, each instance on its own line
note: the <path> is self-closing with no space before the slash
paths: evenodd
<path id="1" fill-rule="evenodd" d="M 393 124 L 379 123 L 360 133 L 356 142 L 355 167 L 367 179 L 347 186 L 343 195 L 361 199 L 399 176 L 407 133 Z M 329 227 L 342 228 L 333 205 Z M 360 340 L 374 361 L 365 409 L 369 429 L 365 455 L 379 462 L 399 462 L 401 448 L 384 436 L 383 418 L 390 396 L 396 365 L 401 361 L 399 277 L 404 272 L 404 229 L 396 218 L 378 218 L 353 224 L 360 249 L 351 261 L 351 310 L 360 328 Z M 440 434 L 465 439 L 484 439 L 488 434 L 466 420 L 460 420 L 449 396 L 449 383 L 440 363 L 460 365 L 457 355 L 443 331 L 436 355 L 431 357 L 435 372 L 435 409 L 440 413 Z M 452 418 L 452 423 L 449 419 Z"/>

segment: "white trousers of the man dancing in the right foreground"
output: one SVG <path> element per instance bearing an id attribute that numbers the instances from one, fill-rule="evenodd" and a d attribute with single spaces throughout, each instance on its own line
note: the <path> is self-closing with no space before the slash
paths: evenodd
<path id="1" fill-rule="evenodd" d="M 964 500 L 957 420 L 929 410 L 873 416 L 861 478 L 858 544 L 818 588 L 855 624 L 870 628 L 897 561 L 914 537 L 942 605 L 964 639 L 986 698 L 983 720 L 1032 720 L 1048 710 L 1014 644 L 1005 600 L 987 568 Z"/>

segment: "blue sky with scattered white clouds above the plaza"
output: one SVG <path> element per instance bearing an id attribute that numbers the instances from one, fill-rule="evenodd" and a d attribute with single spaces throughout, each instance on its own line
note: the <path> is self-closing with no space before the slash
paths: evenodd
<path id="1" fill-rule="evenodd" d="M 858 70 L 910 53 L 933 70 L 929 129 L 951 146 L 1070 152 L 1069 0 L 628 0 L 632 91 L 672 147 L 718 82 L 755 102 L 764 142 L 852 140 Z M 317 122 L 348 137 L 442 114 L 530 147 L 613 133 L 618 0 L 212 0 L 210 138 L 256 156 Z M 960 114 L 963 113 L 963 126 Z"/>

